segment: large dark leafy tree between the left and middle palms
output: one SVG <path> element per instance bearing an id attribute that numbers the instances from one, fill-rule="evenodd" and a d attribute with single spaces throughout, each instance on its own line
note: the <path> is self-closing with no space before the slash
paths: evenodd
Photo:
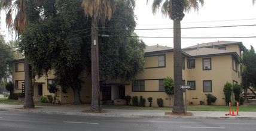
<path id="1" fill-rule="evenodd" d="M 89 54 L 89 38 L 82 37 L 87 29 L 81 1 L 29 1 L 29 25 L 22 33 L 20 46 L 28 54 L 33 76 L 47 76 L 54 70 L 55 82 L 62 88 L 72 88 L 73 104 L 82 104 L 80 98 L 82 74 Z M 75 34 L 74 34 L 75 33 Z"/>

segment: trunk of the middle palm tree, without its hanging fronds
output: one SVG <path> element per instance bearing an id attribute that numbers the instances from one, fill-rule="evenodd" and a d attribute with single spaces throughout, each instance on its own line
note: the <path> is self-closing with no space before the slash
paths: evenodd
<path id="1" fill-rule="evenodd" d="M 97 18 L 92 17 L 92 105 L 91 110 L 100 111 L 99 101 L 99 51 L 98 51 L 98 30 L 97 30 Z"/>

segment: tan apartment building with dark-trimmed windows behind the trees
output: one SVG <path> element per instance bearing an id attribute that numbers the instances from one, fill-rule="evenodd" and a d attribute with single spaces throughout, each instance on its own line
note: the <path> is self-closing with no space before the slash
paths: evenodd
<path id="1" fill-rule="evenodd" d="M 202 43 L 182 49 L 182 78 L 184 85 L 191 85 L 187 91 L 188 104 L 206 103 L 206 93 L 217 97 L 214 105 L 225 105 L 223 88 L 226 82 L 242 83 L 241 51 L 242 42 L 211 42 Z M 14 93 L 22 92 L 24 82 L 24 59 L 13 63 Z M 153 107 L 157 107 L 157 98 L 164 100 L 169 106 L 169 99 L 164 93 L 164 77 L 173 78 L 173 48 L 168 46 L 147 46 L 145 49 L 145 70 L 133 83 L 107 82 L 100 86 L 101 100 L 114 101 L 125 95 L 153 97 Z M 53 95 L 48 92 L 47 85 L 54 79 L 53 74 L 41 77 L 33 82 L 35 97 Z M 80 94 L 83 102 L 89 103 L 92 98 L 91 78 L 85 77 Z M 74 100 L 72 89 L 68 93 L 59 92 L 59 101 L 63 104 Z M 173 104 L 173 96 L 172 96 Z M 146 106 L 149 103 L 146 102 Z"/>

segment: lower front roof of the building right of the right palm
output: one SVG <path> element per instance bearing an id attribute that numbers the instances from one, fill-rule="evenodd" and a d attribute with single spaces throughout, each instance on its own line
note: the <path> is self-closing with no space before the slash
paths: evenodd
<path id="1" fill-rule="evenodd" d="M 243 63 L 242 59 L 239 55 L 234 51 L 226 51 L 223 49 L 212 49 L 212 48 L 199 48 L 193 51 L 187 51 L 190 58 L 197 58 L 197 57 L 211 57 L 211 56 L 218 56 L 218 55 L 232 55 L 239 63 Z"/>

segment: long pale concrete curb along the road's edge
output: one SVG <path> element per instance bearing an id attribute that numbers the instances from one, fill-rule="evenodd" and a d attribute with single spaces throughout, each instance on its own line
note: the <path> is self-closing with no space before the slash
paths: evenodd
<path id="1" fill-rule="evenodd" d="M 256 120 L 256 117 L 204 117 L 204 116 L 150 116 L 150 115 L 127 115 L 127 114 L 99 114 L 81 113 L 70 111 L 42 111 L 42 110 L 20 110 L 20 109 L 0 109 L 0 111 L 38 113 L 38 114 L 62 114 L 89 117 L 120 117 L 120 118 L 185 118 L 185 119 L 211 119 L 211 120 Z"/>

